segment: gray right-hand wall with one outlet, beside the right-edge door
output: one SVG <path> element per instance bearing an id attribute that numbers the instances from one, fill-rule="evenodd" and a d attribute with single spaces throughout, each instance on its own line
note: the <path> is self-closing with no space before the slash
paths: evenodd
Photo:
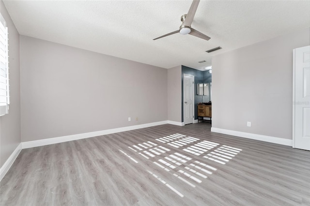
<path id="1" fill-rule="evenodd" d="M 305 29 L 213 57 L 212 127 L 292 139 L 293 49 L 309 44 Z"/>

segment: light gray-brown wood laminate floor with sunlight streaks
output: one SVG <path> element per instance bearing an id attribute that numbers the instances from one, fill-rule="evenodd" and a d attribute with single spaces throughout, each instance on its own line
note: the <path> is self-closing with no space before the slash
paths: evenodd
<path id="1" fill-rule="evenodd" d="M 2 206 L 309 206 L 310 151 L 160 125 L 23 149 Z"/>

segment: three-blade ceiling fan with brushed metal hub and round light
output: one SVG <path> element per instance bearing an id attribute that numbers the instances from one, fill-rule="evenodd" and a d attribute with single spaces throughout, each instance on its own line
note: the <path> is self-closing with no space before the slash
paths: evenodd
<path id="1" fill-rule="evenodd" d="M 160 39 L 160 38 L 163 38 L 165 36 L 169 36 L 171 34 L 180 33 L 180 34 L 183 34 L 183 35 L 190 34 L 190 35 L 193 35 L 193 36 L 196 36 L 196 37 L 199 37 L 199 38 L 202 38 L 202 39 L 208 41 L 210 39 L 210 37 L 208 37 L 207 35 L 203 34 L 202 32 L 199 32 L 198 30 L 193 29 L 193 28 L 190 27 L 190 25 L 193 22 L 194 15 L 196 13 L 199 1 L 200 0 L 193 0 L 192 5 L 190 6 L 190 8 L 188 10 L 187 15 L 182 15 L 181 16 L 181 21 L 183 23 L 181 24 L 179 30 L 172 31 L 171 33 L 168 33 L 168 34 L 165 34 L 163 36 L 157 37 L 157 38 L 155 38 L 153 40 Z"/>

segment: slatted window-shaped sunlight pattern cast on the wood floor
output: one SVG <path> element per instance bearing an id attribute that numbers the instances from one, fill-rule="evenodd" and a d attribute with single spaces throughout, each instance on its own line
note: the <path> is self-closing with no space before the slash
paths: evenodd
<path id="1" fill-rule="evenodd" d="M 203 140 L 197 143 L 197 141 L 200 140 L 199 138 L 186 136 L 179 133 L 164 136 L 155 140 L 160 142 L 159 145 L 148 141 L 133 145 L 128 148 L 133 150 L 134 152 L 137 152 L 145 159 L 155 159 L 152 160 L 152 162 L 156 166 L 172 174 L 178 179 L 178 181 L 181 180 L 183 183 L 186 183 L 193 188 L 196 187 L 197 183 L 202 183 L 203 179 L 207 179 L 208 176 L 212 175 L 215 171 L 217 171 L 217 168 L 208 165 L 205 161 L 212 161 L 225 165 L 242 151 L 242 149 L 239 148 L 226 145 L 221 146 L 219 143 L 207 140 Z M 167 147 L 174 147 L 172 149 L 172 152 L 179 147 L 184 147 L 186 145 L 190 146 L 182 150 L 178 149 L 179 152 L 171 153 L 171 149 L 161 146 L 160 144 L 165 144 L 167 145 Z M 120 151 L 124 153 L 122 150 Z M 200 162 L 198 160 L 195 160 L 195 158 L 191 158 L 182 154 L 184 152 L 186 152 L 187 154 L 190 153 L 192 155 L 195 155 L 196 157 L 203 154 L 204 156 L 202 156 L 202 158 L 205 161 Z M 138 163 L 126 153 L 124 153 L 124 155 L 126 155 L 134 162 Z M 163 158 L 157 158 L 160 155 L 163 155 Z M 176 192 L 181 197 L 184 196 L 182 193 L 171 187 L 171 185 L 167 184 L 166 181 L 162 180 L 154 173 L 150 171 L 148 172 L 152 174 L 152 176 L 160 180 L 167 187 L 169 187 L 172 191 Z"/>

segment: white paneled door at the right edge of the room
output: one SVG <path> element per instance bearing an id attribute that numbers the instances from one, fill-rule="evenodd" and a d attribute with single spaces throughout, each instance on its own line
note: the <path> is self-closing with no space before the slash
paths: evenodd
<path id="1" fill-rule="evenodd" d="M 310 46 L 293 55 L 293 147 L 310 150 Z"/>

